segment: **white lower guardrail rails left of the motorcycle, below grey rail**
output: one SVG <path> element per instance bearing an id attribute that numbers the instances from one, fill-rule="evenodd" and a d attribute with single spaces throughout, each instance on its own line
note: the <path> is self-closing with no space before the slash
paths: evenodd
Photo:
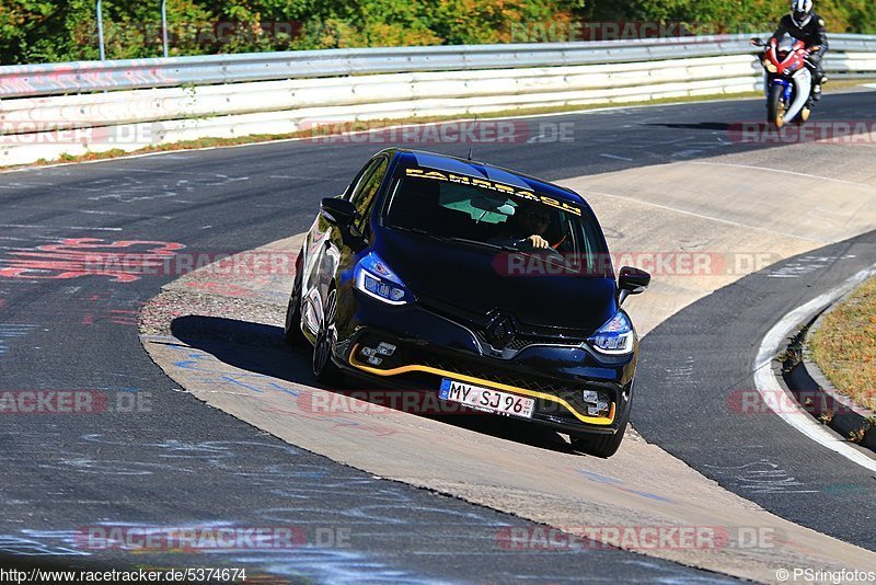
<path id="1" fill-rule="evenodd" d="M 752 64 L 748 55 L 733 55 L 608 66 L 383 73 L 42 96 L 5 100 L 0 105 L 0 130 L 7 135 L 28 134 L 37 122 L 42 127 L 50 123 L 53 128 L 76 128 L 260 113 L 284 119 L 332 114 L 359 117 L 374 112 L 393 117 L 393 111 L 404 108 L 411 110 L 412 116 L 415 110 L 436 115 L 441 106 L 465 101 L 465 105 L 495 110 L 521 107 L 527 102 L 540 106 L 570 105 L 574 100 L 598 103 L 620 95 L 647 100 L 680 89 L 739 92 L 747 91 L 741 85 L 748 91 L 754 89 Z"/>

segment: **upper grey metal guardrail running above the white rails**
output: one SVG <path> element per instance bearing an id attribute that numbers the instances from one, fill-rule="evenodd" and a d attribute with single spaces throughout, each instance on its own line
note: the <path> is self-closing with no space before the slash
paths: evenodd
<path id="1" fill-rule="evenodd" d="M 761 35 L 766 36 L 766 35 Z M 325 49 L 0 67 L 0 97 L 371 73 L 556 67 L 751 54 L 750 35 L 551 44 Z M 876 36 L 830 35 L 876 53 Z"/>

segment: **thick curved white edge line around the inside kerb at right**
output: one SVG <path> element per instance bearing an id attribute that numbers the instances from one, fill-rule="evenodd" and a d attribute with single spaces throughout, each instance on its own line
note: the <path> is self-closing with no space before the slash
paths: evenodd
<path id="1" fill-rule="evenodd" d="M 764 404 L 769 405 L 770 410 L 772 410 L 776 416 L 822 447 L 835 451 L 853 463 L 857 463 L 869 471 L 876 471 L 876 460 L 871 459 L 865 454 L 851 447 L 843 439 L 827 431 L 823 425 L 818 423 L 799 405 L 797 406 L 798 410 L 788 412 L 791 409 L 788 409 L 785 401 L 783 401 L 782 409 L 779 411 L 773 409 L 772 397 L 783 393 L 784 390 L 779 385 L 779 380 L 776 380 L 775 374 L 773 374 L 770 365 L 772 364 L 776 349 L 785 339 L 791 336 L 797 325 L 808 320 L 817 310 L 827 307 L 874 274 L 876 274 L 876 264 L 861 271 L 840 286 L 814 298 L 809 302 L 797 307 L 784 316 L 763 337 L 760 348 L 758 349 L 758 357 L 754 358 L 754 388 L 758 389 Z M 796 404 L 796 402 L 791 401 L 791 404 Z"/>

